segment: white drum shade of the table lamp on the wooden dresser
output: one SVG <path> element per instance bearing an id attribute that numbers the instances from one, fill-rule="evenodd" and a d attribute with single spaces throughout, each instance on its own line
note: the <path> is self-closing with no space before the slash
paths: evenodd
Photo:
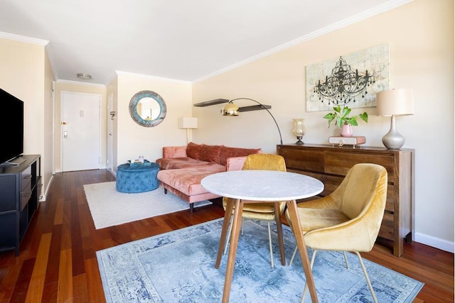
<path id="1" fill-rule="evenodd" d="M 412 89 L 391 89 L 376 94 L 378 116 L 406 116 L 414 114 Z"/>

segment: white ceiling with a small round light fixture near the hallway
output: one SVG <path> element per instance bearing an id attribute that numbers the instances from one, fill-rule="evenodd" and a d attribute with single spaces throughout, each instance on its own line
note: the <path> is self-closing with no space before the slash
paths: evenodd
<path id="1" fill-rule="evenodd" d="M 195 82 L 409 1 L 2 0 L 0 38 L 45 45 L 59 80 Z"/>

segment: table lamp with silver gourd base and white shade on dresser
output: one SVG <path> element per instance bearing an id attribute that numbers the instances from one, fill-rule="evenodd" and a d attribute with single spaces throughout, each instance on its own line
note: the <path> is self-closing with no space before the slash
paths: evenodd
<path id="1" fill-rule="evenodd" d="M 405 144 L 405 137 L 398 133 L 395 116 L 414 114 L 414 92 L 411 89 L 390 89 L 376 94 L 378 116 L 390 116 L 390 131 L 382 137 L 382 144 L 388 149 L 399 150 Z"/>

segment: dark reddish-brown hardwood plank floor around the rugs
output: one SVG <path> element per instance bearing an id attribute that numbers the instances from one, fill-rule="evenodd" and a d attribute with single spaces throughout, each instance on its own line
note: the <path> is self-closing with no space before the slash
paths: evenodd
<path id="1" fill-rule="evenodd" d="M 0 302 L 105 302 L 96 251 L 224 215 L 220 203 L 95 229 L 83 184 L 114 181 L 106 170 L 55 175 L 14 252 L 0 253 Z M 397 258 L 379 244 L 363 257 L 425 283 L 414 302 L 454 302 L 454 254 L 405 243 Z"/>

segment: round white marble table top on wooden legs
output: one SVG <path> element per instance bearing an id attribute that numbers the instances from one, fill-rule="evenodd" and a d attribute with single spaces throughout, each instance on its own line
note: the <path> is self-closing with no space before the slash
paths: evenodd
<path id="1" fill-rule="evenodd" d="M 287 201 L 323 191 L 314 177 L 276 170 L 232 170 L 204 177 L 200 184 L 213 194 L 242 200 Z"/>

